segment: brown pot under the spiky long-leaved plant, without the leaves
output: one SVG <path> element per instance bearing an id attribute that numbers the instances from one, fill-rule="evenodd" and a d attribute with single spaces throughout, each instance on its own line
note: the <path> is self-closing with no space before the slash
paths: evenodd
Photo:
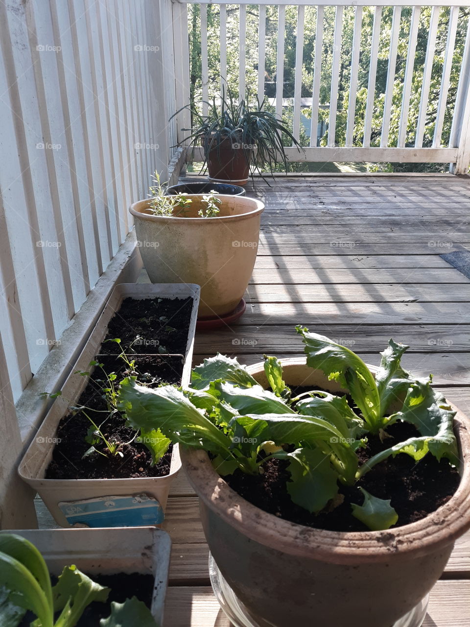
<path id="1" fill-rule="evenodd" d="M 224 139 L 217 147 L 209 149 L 209 142 L 204 142 L 207 169 L 212 181 L 232 182 L 245 185 L 249 177 L 251 147 Z"/>

